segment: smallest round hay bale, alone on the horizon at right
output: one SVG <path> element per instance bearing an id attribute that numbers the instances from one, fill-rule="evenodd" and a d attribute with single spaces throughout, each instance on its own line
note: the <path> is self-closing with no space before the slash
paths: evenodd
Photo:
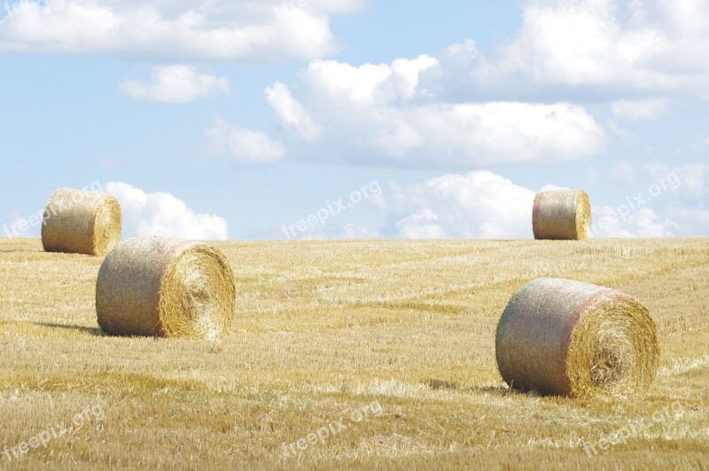
<path id="1" fill-rule="evenodd" d="M 532 215 L 534 239 L 588 240 L 590 237 L 591 205 L 587 192 L 538 192 Z"/>

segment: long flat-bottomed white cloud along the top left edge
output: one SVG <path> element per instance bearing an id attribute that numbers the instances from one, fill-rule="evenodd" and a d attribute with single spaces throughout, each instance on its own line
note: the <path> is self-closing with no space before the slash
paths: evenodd
<path id="1" fill-rule="evenodd" d="M 359 0 L 19 0 L 0 18 L 0 51 L 149 59 L 316 59 L 333 12 Z"/>

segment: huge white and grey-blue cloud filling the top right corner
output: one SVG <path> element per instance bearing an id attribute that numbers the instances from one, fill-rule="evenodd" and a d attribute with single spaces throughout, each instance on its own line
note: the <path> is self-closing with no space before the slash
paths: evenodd
<path id="1" fill-rule="evenodd" d="M 463 95 L 567 90 L 709 99 L 707 47 L 704 0 L 541 0 L 523 7 L 510 42 L 485 53 L 472 41 L 456 44 L 433 72 Z"/>

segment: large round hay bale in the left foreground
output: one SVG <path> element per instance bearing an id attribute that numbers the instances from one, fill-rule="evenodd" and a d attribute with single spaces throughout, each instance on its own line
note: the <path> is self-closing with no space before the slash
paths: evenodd
<path id="1" fill-rule="evenodd" d="M 98 271 L 98 325 L 108 334 L 215 340 L 236 302 L 226 257 L 202 242 L 127 239 Z"/>

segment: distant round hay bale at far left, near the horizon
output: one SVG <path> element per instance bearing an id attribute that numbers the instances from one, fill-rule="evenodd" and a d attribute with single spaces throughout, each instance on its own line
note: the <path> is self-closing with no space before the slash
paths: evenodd
<path id="1" fill-rule="evenodd" d="M 121 206 L 113 196 L 59 188 L 51 195 L 42 224 L 47 252 L 106 255 L 121 241 Z"/>

